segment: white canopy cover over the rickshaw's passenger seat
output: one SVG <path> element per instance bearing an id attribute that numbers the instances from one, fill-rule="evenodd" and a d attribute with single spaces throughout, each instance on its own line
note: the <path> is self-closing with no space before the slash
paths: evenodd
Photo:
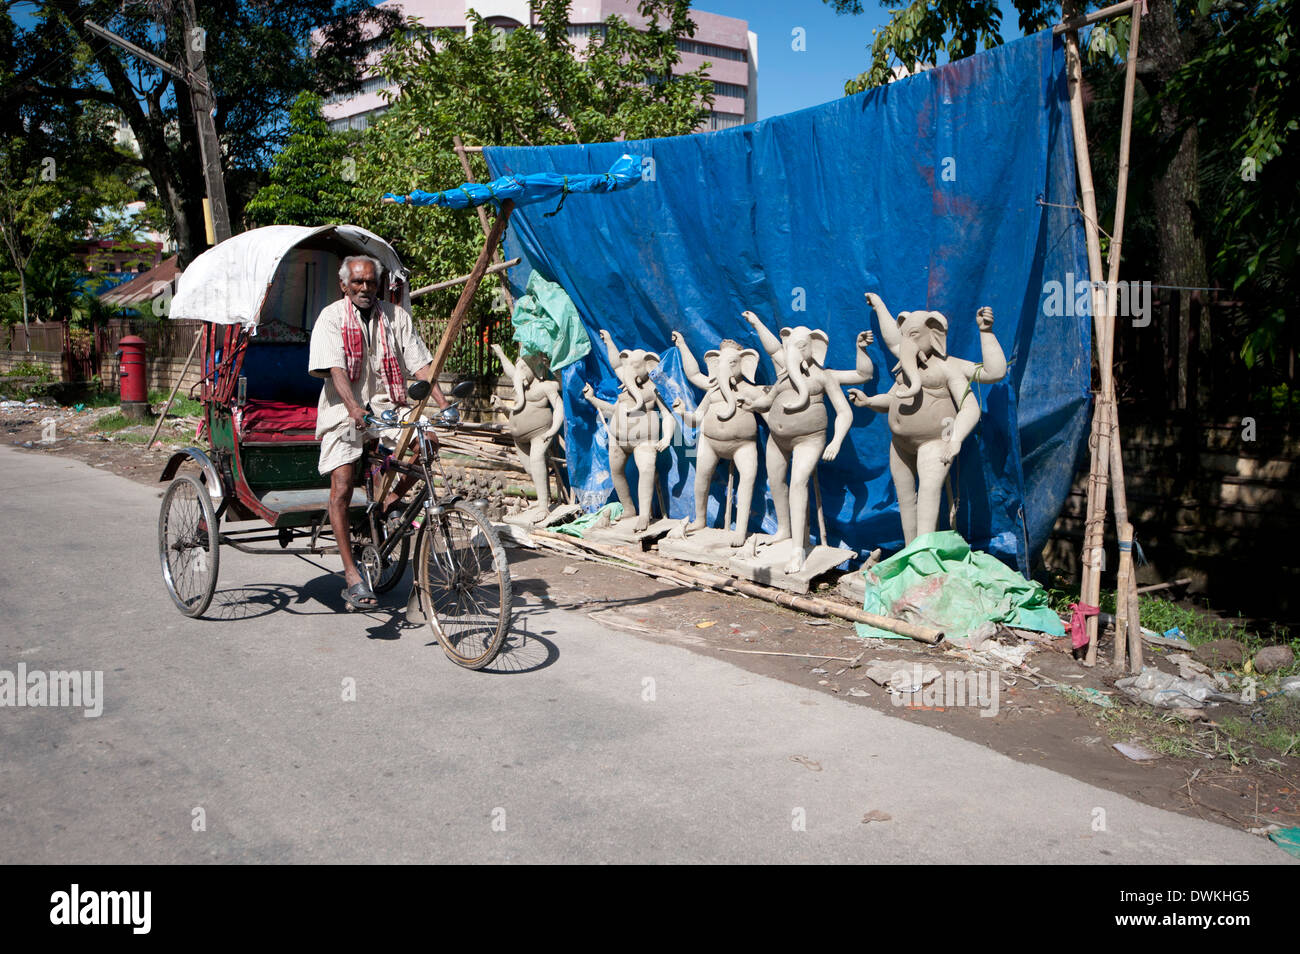
<path id="1" fill-rule="evenodd" d="M 168 317 L 255 328 L 281 260 L 308 239 L 315 239 L 313 244 L 321 239 L 337 243 L 344 256 L 369 255 L 390 276 L 406 281 L 398 253 L 373 231 L 356 225 L 268 225 L 233 235 L 190 263 Z"/>

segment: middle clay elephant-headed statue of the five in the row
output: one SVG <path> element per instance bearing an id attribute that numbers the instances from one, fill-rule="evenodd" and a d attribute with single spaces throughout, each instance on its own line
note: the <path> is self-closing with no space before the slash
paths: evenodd
<path id="1" fill-rule="evenodd" d="M 737 474 L 736 529 L 732 532 L 731 545 L 738 547 L 749 532 L 749 509 L 754 499 L 754 478 L 758 476 L 758 420 L 753 411 L 741 407 L 742 402 L 763 396 L 762 389 L 754 383 L 758 352 L 727 338 L 716 350 L 705 352 L 707 373 L 701 373 L 699 364 L 680 331 L 672 333 L 672 343 L 681 355 L 686 380 L 705 391 L 694 412 L 686 411 L 680 398 L 672 403 L 673 412 L 686 425 L 699 429 L 696 447 L 696 519 L 686 529 L 703 529 L 708 517 L 708 485 L 714 471 L 719 460 L 729 460 Z"/>

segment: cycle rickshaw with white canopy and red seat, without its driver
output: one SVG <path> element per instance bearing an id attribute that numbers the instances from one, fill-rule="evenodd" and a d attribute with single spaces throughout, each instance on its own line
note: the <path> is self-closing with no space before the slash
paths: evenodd
<path id="1" fill-rule="evenodd" d="M 393 247 L 348 225 L 255 229 L 208 250 L 182 274 L 170 317 L 204 321 L 196 387 L 208 446 L 186 447 L 162 469 L 160 481 L 170 481 L 159 515 L 162 582 L 177 608 L 198 617 L 216 591 L 224 546 L 316 556 L 351 546 L 376 593 L 391 590 L 413 560 L 412 600 L 443 651 L 478 669 L 497 656 L 510 629 L 510 565 L 484 502 L 439 496 L 433 421 L 415 413 L 370 419 L 378 428 L 410 429 L 413 458 L 396 460 L 382 450 L 363 456 L 351 539 L 341 543 L 330 530 L 329 476 L 317 472 L 315 435 L 322 381 L 307 364 L 312 324 L 339 296 L 347 255 L 377 259 L 390 277 L 389 295 L 407 295 Z M 399 292 L 391 291 L 394 279 Z M 422 407 L 428 386 L 415 382 L 410 394 Z M 467 396 L 465 386 L 451 396 Z M 181 473 L 187 463 L 196 473 Z M 377 485 L 389 471 L 419 482 L 411 499 L 385 516 L 374 499 L 382 499 Z M 228 526 L 254 520 L 261 525 Z"/>

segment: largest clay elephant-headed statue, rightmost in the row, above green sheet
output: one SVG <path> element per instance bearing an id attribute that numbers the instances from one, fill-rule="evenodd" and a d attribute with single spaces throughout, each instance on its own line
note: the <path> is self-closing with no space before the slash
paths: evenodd
<path id="1" fill-rule="evenodd" d="M 893 387 L 867 396 L 853 389 L 859 407 L 888 415 L 889 472 L 898 493 L 905 543 L 939 529 L 944 480 L 962 441 L 979 424 L 979 400 L 972 383 L 993 383 L 1006 376 L 1006 356 L 993 335 L 993 309 L 980 308 L 980 364 L 948 354 L 948 318 L 939 312 L 900 312 L 890 317 L 880 296 L 867 292 L 880 321 L 880 337 L 898 359 Z"/>

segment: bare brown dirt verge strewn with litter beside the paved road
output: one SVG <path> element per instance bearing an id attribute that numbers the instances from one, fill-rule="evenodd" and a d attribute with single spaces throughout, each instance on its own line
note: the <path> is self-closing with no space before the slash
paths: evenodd
<path id="1" fill-rule="evenodd" d="M 168 443 L 146 448 L 143 437 L 135 435 L 133 442 L 138 429 L 109 435 L 96 430 L 98 421 L 113 411 L 0 407 L 0 439 L 32 454 L 72 456 L 157 485 L 168 456 L 176 446 L 192 441 L 196 422 L 169 419 L 162 429 Z M 909 669 L 919 663 L 946 673 L 987 669 L 989 662 L 972 663 L 945 645 L 932 649 L 909 639 L 861 639 L 846 623 L 758 599 L 701 591 L 623 567 L 547 551 L 516 548 L 511 554 L 517 565 L 517 591 L 547 606 L 585 612 L 611 633 L 636 633 L 725 659 L 755 673 L 870 706 L 893 719 L 949 732 L 1147 805 L 1244 831 L 1300 825 L 1300 758 L 1234 745 L 1222 730 L 1228 720 L 1249 720 L 1251 714 L 1222 704 L 1205 710 L 1213 723 L 1188 724 L 1132 704 L 1114 689 L 1122 673 L 1106 663 L 1083 668 L 1071 658 L 1065 638 L 1034 641 L 1024 667 L 998 673 L 996 715 L 988 715 L 988 706 L 927 706 L 919 694 L 892 697 L 866 675 L 871 663 L 884 660 Z M 1008 642 L 1018 643 L 1015 638 Z M 1149 664 L 1174 671 L 1161 662 L 1167 650 L 1147 647 L 1147 652 Z M 1098 660 L 1109 656 L 1104 641 Z M 1062 691 L 1052 684 L 1080 691 Z M 1104 694 L 1113 706 L 1088 701 L 1088 690 Z M 1254 712 L 1256 723 L 1273 717 L 1262 703 Z M 1128 741 L 1140 742 L 1158 758 L 1134 762 L 1113 747 Z"/>

